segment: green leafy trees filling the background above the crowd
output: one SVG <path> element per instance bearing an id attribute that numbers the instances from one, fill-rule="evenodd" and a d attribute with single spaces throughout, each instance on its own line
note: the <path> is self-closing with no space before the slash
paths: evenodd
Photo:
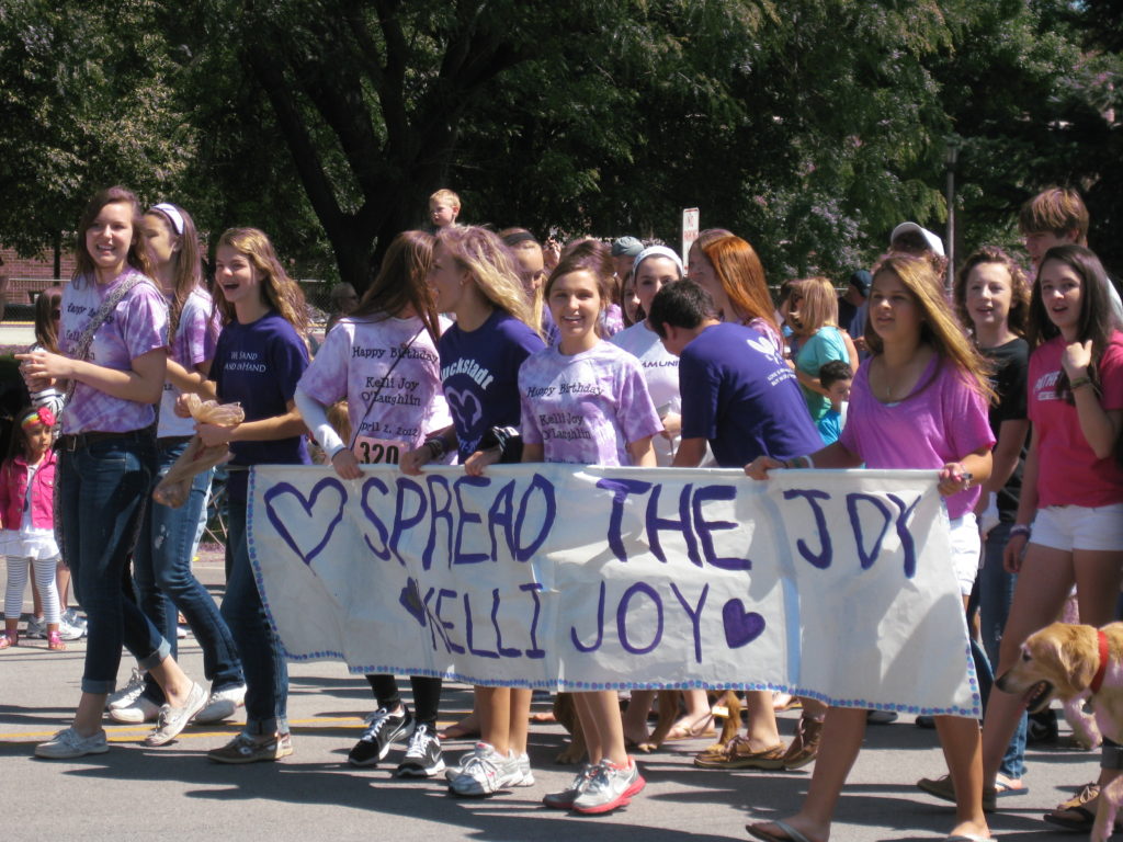
<path id="1" fill-rule="evenodd" d="M 439 186 L 463 219 L 675 242 L 681 210 L 769 280 L 868 265 L 892 227 L 959 255 L 1079 187 L 1123 269 L 1121 0 L 74 0 L 0 6 L 0 241 L 67 246 L 113 182 L 255 225 L 365 285 Z"/>

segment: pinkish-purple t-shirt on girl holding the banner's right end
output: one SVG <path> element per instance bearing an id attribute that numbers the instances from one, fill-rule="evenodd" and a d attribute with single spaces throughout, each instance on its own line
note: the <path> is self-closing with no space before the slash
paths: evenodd
<path id="1" fill-rule="evenodd" d="M 882 403 L 869 388 L 869 366 L 858 368 L 840 442 L 867 468 L 940 469 L 994 446 L 986 401 L 951 364 L 933 356 L 903 401 Z M 955 520 L 975 507 L 978 485 L 946 498 Z"/>

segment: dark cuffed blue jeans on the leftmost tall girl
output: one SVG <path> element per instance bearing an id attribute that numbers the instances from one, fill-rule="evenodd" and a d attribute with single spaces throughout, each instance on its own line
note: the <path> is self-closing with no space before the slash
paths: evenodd
<path id="1" fill-rule="evenodd" d="M 89 619 L 83 693 L 113 690 L 122 643 L 141 669 L 171 652 L 122 587 L 155 466 L 155 445 L 141 433 L 58 454 L 61 549 Z"/>

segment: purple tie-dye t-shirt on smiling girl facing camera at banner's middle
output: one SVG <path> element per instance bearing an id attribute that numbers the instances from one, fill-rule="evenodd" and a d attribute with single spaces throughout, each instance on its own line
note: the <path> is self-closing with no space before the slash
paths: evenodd
<path id="1" fill-rule="evenodd" d="M 519 395 L 522 440 L 546 461 L 630 465 L 628 445 L 663 431 L 639 360 L 611 342 L 539 351 L 519 369 Z"/>

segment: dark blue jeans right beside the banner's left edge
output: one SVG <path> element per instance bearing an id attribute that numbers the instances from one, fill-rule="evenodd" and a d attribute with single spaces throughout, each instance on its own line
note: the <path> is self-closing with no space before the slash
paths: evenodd
<path id="1" fill-rule="evenodd" d="M 231 564 L 222 619 L 234 633 L 246 674 L 246 733 L 283 734 L 289 731 L 289 665 L 265 614 L 249 565 L 246 501 L 231 500 L 229 506 L 227 548 Z"/>

